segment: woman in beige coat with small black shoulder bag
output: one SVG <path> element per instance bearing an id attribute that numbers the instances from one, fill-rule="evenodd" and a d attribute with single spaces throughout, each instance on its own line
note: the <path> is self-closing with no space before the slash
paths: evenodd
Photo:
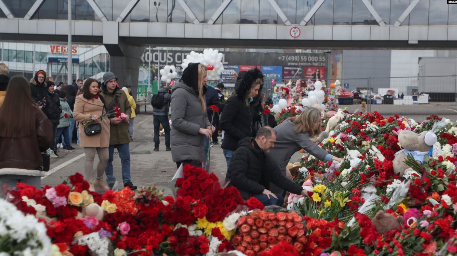
<path id="1" fill-rule="evenodd" d="M 89 181 L 90 191 L 95 191 L 94 186 L 103 190 L 109 187 L 103 182 L 103 173 L 105 172 L 106 163 L 108 162 L 108 147 L 110 145 L 110 121 L 107 117 L 100 116 L 105 113 L 104 105 L 99 99 L 98 82 L 89 78 L 85 81 L 82 94 L 76 97 L 74 103 L 74 120 L 79 122 L 80 145 L 84 147 L 85 152 L 85 177 Z M 94 120 L 92 123 L 101 123 L 101 132 L 95 135 L 87 136 L 84 133 L 83 123 Z M 94 177 L 94 158 L 95 151 L 98 154 L 98 165 L 96 179 Z"/>

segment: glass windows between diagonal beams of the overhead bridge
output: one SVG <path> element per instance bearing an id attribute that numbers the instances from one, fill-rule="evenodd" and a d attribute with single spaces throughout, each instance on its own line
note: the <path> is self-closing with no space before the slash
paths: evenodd
<path id="1" fill-rule="evenodd" d="M 223 0 L 184 0 L 201 23 L 207 23 Z M 3 0 L 15 17 L 24 17 L 35 0 Z M 127 0 L 95 0 L 106 18 L 115 21 Z M 292 24 L 299 24 L 316 0 L 275 0 Z M 368 0 L 384 23 L 393 25 L 412 0 Z M 72 1 L 75 20 L 100 20 L 87 0 Z M 456 25 L 456 5 L 420 0 L 401 25 Z M 68 0 L 45 0 L 33 19 L 67 19 Z M 0 17 L 5 17 L 0 11 Z M 178 0 L 139 0 L 125 21 L 191 23 Z M 269 0 L 232 0 L 215 24 L 284 24 Z M 325 0 L 307 25 L 377 25 L 361 0 Z"/>

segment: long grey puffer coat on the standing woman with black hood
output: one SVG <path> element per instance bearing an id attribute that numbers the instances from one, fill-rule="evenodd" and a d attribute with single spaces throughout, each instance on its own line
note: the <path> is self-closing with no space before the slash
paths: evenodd
<path id="1" fill-rule="evenodd" d="M 173 85 L 171 92 L 171 157 L 174 162 L 205 160 L 205 136 L 198 133 L 211 123 L 197 93 L 182 80 Z"/>

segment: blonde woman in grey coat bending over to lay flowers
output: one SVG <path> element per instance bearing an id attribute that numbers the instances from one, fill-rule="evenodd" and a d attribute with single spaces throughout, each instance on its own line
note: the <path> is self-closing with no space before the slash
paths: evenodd
<path id="1" fill-rule="evenodd" d="M 270 150 L 270 157 L 279 164 L 282 175 L 292 179 L 292 175 L 287 171 L 286 166 L 293 154 L 298 150 L 304 149 L 321 161 L 341 162 L 341 158 L 330 155 L 324 149 L 315 144 L 312 139 L 317 138 L 322 132 L 321 112 L 314 107 L 306 108 L 300 115 L 290 117 L 275 127 L 277 132 L 275 147 Z M 275 192 L 282 193 L 283 189 L 275 187 L 271 189 Z"/>

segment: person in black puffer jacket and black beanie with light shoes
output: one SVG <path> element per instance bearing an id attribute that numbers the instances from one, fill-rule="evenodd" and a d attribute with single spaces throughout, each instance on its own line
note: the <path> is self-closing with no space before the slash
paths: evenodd
<path id="1" fill-rule="evenodd" d="M 60 99 L 58 94 L 54 91 L 54 83 L 51 81 L 46 82 L 46 107 L 43 110 L 46 117 L 48 117 L 49 122 L 53 125 L 53 142 L 51 144 L 51 149 L 53 150 L 54 155 L 57 155 L 57 148 L 56 148 L 56 141 L 55 141 L 55 134 L 57 131 L 57 126 L 59 124 L 60 114 L 62 113 L 62 109 L 60 108 Z M 52 158 L 55 158 L 53 154 L 51 154 Z"/>

